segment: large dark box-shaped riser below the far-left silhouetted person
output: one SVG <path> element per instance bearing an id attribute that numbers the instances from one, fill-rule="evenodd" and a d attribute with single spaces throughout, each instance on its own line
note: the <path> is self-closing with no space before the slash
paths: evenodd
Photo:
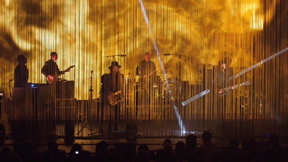
<path id="1" fill-rule="evenodd" d="M 55 92 L 55 85 L 13 89 L 12 112 L 4 112 L 11 115 L 8 122 L 16 140 L 45 139 L 55 130 Z"/>

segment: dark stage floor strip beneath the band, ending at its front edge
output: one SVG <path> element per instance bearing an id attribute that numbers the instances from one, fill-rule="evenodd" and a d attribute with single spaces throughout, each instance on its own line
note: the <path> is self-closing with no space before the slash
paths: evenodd
<path id="1" fill-rule="evenodd" d="M 274 120 L 217 120 L 217 119 L 136 119 L 119 120 L 118 131 L 113 131 L 113 121 L 103 120 L 10 120 L 7 114 L 1 115 L 1 124 L 5 126 L 5 134 L 10 139 L 21 138 L 33 141 L 46 139 L 64 139 L 73 136 L 74 139 L 121 139 L 127 132 L 133 132 L 139 139 L 153 138 L 184 138 L 189 134 L 201 137 L 204 131 L 210 131 L 215 138 L 237 138 L 243 140 L 249 137 L 260 138 L 266 133 L 275 133 L 277 127 L 283 127 Z M 129 123 L 136 126 L 128 127 Z M 277 127 L 276 127 L 277 126 Z M 285 132 L 280 137 L 287 137 Z M 16 139 L 16 141 L 19 141 Z"/>

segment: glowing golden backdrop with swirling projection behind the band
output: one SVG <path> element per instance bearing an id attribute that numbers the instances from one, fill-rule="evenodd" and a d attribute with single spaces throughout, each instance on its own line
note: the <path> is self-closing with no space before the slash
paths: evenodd
<path id="1" fill-rule="evenodd" d="M 166 70 L 170 72 L 167 75 L 180 77 L 189 85 L 202 84 L 206 67 L 218 66 L 220 60 L 230 57 L 233 75 L 244 72 L 233 79 L 233 84 L 251 81 L 251 86 L 241 87 L 233 97 L 265 98 L 273 108 L 269 113 L 272 116 L 276 111 L 285 111 L 288 94 L 285 0 L 0 3 L 0 90 L 6 97 L 11 91 L 9 85 L 13 87 L 9 80 L 13 79 L 19 54 L 28 59 L 28 82 L 45 83 L 41 67 L 50 59 L 50 53 L 56 51 L 60 70 L 76 65 L 62 77 L 75 80 L 75 97 L 85 100 L 89 97 L 92 70 L 93 98 L 97 98 L 99 78 L 109 72 L 111 61 L 122 65 L 120 70 L 125 76 L 137 79 L 137 63 L 145 52 L 150 52 L 162 80 L 166 79 L 163 75 Z M 284 51 L 274 55 L 281 50 Z M 174 55 L 165 56 L 167 53 Z M 267 59 L 270 56 L 275 57 Z M 186 99 L 199 92 L 187 93 Z M 252 99 L 249 102 L 251 105 Z"/>

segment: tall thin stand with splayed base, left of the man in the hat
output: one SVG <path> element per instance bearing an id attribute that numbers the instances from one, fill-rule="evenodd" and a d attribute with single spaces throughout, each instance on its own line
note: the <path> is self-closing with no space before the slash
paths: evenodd
<path id="1" fill-rule="evenodd" d="M 87 136 L 92 136 L 94 134 L 99 133 L 100 136 L 103 136 L 103 129 L 102 129 L 102 116 L 101 116 L 101 121 L 100 121 L 100 128 L 95 124 L 95 121 L 93 121 L 92 118 L 92 101 L 93 101 L 93 87 L 92 87 L 92 73 L 93 70 L 91 70 L 91 76 L 90 76 L 90 89 L 89 89 L 89 105 L 88 105 L 88 119 L 86 117 L 86 122 L 85 125 L 78 131 L 77 135 L 80 134 L 80 132 L 86 128 L 90 133 L 87 134 Z M 102 114 L 102 109 L 101 109 L 101 114 Z M 96 130 L 96 132 L 93 132 Z M 98 131 L 97 131 L 98 130 Z"/>

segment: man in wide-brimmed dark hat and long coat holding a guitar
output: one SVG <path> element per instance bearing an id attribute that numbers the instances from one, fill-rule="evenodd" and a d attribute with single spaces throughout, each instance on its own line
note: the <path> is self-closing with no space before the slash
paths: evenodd
<path id="1" fill-rule="evenodd" d="M 124 75 L 119 72 L 121 65 L 117 61 L 108 67 L 110 73 L 101 76 L 101 98 L 103 108 L 109 111 L 109 131 L 118 131 L 119 111 L 122 106 Z M 113 124 L 112 124 L 113 121 Z"/>

